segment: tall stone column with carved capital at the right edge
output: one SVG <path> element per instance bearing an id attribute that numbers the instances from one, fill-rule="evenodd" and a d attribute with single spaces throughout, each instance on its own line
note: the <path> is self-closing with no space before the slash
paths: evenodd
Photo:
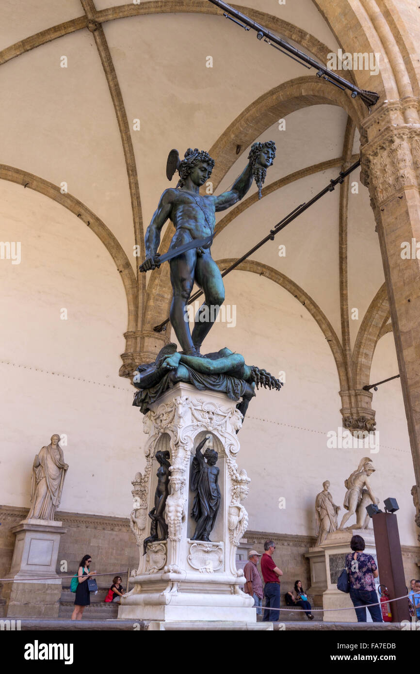
<path id="1" fill-rule="evenodd" d="M 361 179 L 380 239 L 420 499 L 420 124 L 404 119 L 416 107 L 415 98 L 385 101 L 363 121 Z"/>

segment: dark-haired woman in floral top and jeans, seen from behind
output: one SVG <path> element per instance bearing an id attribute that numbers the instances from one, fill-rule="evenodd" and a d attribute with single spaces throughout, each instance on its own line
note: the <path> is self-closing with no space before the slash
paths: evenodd
<path id="1" fill-rule="evenodd" d="M 365 541 L 361 536 L 353 536 L 350 541 L 353 553 L 346 556 L 346 568 L 350 578 L 350 599 L 355 607 L 357 622 L 366 622 L 366 605 L 378 602 L 374 578 L 378 578 L 378 567 L 372 555 L 365 555 Z M 379 606 L 369 606 L 374 623 L 382 623 Z"/>

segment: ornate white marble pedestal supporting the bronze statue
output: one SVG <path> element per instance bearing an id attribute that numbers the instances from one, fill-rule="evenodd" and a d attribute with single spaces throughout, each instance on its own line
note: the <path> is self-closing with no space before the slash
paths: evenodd
<path id="1" fill-rule="evenodd" d="M 131 528 L 140 548 L 140 565 L 133 572 L 133 589 L 121 597 L 119 618 L 179 624 L 229 621 L 256 623 L 253 599 L 241 590 L 245 577 L 237 570 L 235 553 L 247 529 L 248 517 L 241 499 L 249 491 L 249 478 L 238 471 L 236 455 L 241 427 L 236 403 L 226 394 L 199 391 L 178 383 L 152 405 L 144 417 L 144 431 L 150 436 L 144 448 L 146 468 L 133 490 L 135 509 Z M 218 452 L 218 485 L 221 493 L 216 524 L 210 542 L 192 541 L 196 522 L 191 518 L 193 497 L 189 489 L 191 462 L 198 443 L 212 437 Z M 167 541 L 149 543 L 143 555 L 143 541 L 150 535 L 148 512 L 154 506 L 157 451 L 171 454 L 170 493 L 165 518 L 169 526 Z M 137 486 L 136 486 L 137 485 Z M 182 624 L 181 624 L 182 623 Z"/>

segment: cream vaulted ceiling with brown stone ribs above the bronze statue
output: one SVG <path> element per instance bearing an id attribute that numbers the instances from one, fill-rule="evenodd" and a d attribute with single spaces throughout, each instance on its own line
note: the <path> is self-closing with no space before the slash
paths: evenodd
<path id="1" fill-rule="evenodd" d="M 311 0 L 235 6 L 324 63 L 340 47 Z M 142 249 L 169 185 L 171 148 L 209 150 L 220 191 L 243 170 L 252 142 L 276 142 L 262 200 L 253 186 L 219 214 L 213 256 L 220 266 L 358 156 L 361 103 L 226 20 L 208 0 L 3 0 L 1 14 L 0 178 L 51 197 L 100 237 L 125 286 L 129 330 L 151 330 L 167 312 L 167 270 L 138 276 L 133 247 Z M 162 249 L 171 233 L 168 225 Z M 251 264 L 302 290 L 307 309 L 316 306 L 347 377 L 363 315 L 384 282 L 359 171 Z M 349 320 L 352 307 L 358 320 Z"/>

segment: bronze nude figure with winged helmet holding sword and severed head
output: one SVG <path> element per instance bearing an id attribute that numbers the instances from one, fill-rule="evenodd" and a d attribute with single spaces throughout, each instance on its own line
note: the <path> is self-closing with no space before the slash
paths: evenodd
<path id="1" fill-rule="evenodd" d="M 217 196 L 200 195 L 200 187 L 208 181 L 214 166 L 214 160 L 208 152 L 189 148 L 183 160 L 179 159 L 177 150 L 171 150 L 169 154 L 167 177 L 172 179 L 175 171 L 178 171 L 179 182 L 175 189 L 165 189 L 160 197 L 158 208 L 146 231 L 146 260 L 140 266 L 140 271 L 152 270 L 162 262 L 157 254 L 160 232 L 169 218 L 175 226 L 175 235 L 165 255 L 166 259 L 170 259 L 173 288 L 170 317 L 185 355 L 200 356 L 202 342 L 224 302 L 222 276 L 210 253 L 216 211 L 226 210 L 241 200 L 251 187 L 253 178 L 256 179 L 261 196 L 266 170 L 275 155 L 273 141 L 254 143 L 249 152 L 249 162 L 241 175 L 231 189 Z M 181 251 L 177 254 L 179 248 Z M 198 310 L 191 334 L 185 315 L 194 283 L 203 290 L 204 303 Z"/>

